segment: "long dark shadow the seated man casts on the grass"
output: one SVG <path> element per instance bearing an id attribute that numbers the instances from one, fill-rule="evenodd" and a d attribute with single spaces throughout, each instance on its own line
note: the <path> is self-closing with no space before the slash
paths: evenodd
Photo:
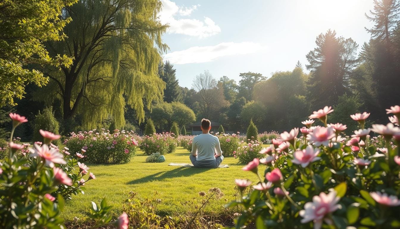
<path id="1" fill-rule="evenodd" d="M 214 169 L 214 168 L 178 167 L 178 168 L 174 168 L 173 170 L 156 172 L 152 175 L 138 178 L 136 180 L 131 180 L 131 181 L 127 182 L 126 184 L 140 184 L 140 183 L 145 183 L 145 182 L 150 182 L 150 181 L 161 181 L 166 178 L 191 176 L 193 174 L 205 172 L 210 169 Z"/>

